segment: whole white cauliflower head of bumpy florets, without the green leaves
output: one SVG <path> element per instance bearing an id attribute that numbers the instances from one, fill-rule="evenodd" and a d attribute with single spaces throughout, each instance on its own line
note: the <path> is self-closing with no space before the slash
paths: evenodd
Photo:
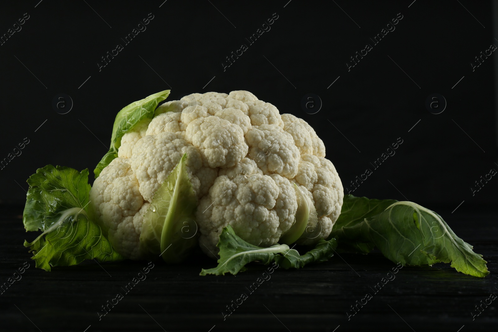
<path id="1" fill-rule="evenodd" d="M 121 141 L 115 137 L 117 153 L 101 162 L 106 166 L 89 204 L 113 247 L 131 259 L 145 257 L 143 225 L 161 185 L 177 190 L 170 176 L 179 176 L 180 160 L 197 202 L 192 216 L 199 245 L 213 258 L 227 225 L 250 244 L 268 247 L 297 227 L 299 206 L 307 204 L 306 231 L 290 238 L 311 245 L 329 236 L 341 212 L 341 179 L 325 159 L 323 141 L 306 121 L 280 114 L 248 91 L 164 103 L 124 130 Z M 168 202 L 161 204 L 171 209 Z"/>

